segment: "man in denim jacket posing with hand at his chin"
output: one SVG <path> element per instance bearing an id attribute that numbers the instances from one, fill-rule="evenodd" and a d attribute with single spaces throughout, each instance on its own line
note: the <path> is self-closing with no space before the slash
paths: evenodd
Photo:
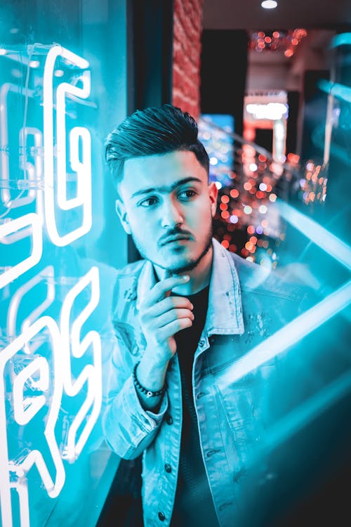
<path id="1" fill-rule="evenodd" d="M 217 188 L 186 112 L 136 111 L 107 137 L 106 160 L 143 256 L 114 288 L 106 441 L 126 460 L 143 454 L 145 527 L 263 526 L 282 484 L 262 448 L 284 375 L 274 359 L 236 382 L 230 372 L 298 314 L 302 293 L 213 238 Z"/>

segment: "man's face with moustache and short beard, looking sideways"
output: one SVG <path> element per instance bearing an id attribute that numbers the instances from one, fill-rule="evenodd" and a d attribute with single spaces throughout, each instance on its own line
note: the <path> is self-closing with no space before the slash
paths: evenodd
<path id="1" fill-rule="evenodd" d="M 193 152 L 135 157 L 124 164 L 117 213 L 143 258 L 181 273 L 211 247 L 217 192 Z"/>

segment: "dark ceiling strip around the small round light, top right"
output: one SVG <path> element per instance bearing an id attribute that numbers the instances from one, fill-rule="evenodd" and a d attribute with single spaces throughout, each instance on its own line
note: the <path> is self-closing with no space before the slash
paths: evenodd
<path id="1" fill-rule="evenodd" d="M 351 31 L 351 0 L 204 0 L 205 30 L 289 30 L 296 27 Z"/>

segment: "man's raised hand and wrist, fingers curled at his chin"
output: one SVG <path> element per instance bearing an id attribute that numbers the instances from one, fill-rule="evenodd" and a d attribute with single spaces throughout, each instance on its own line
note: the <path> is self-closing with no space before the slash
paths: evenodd
<path id="1" fill-rule="evenodd" d="M 184 285 L 189 279 L 190 277 L 185 275 L 161 280 L 140 304 L 139 321 L 147 347 L 136 375 L 140 384 L 147 390 L 157 391 L 164 386 L 168 361 L 176 353 L 176 339 L 173 335 L 185 327 L 190 327 L 194 320 L 190 300 L 169 296 L 171 289 Z M 146 401 L 141 395 L 140 401 L 145 408 L 150 409 L 159 403 L 159 398 L 158 401 Z"/>

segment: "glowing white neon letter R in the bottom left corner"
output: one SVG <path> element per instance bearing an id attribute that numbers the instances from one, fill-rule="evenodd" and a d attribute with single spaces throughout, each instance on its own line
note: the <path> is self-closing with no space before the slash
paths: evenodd
<path id="1" fill-rule="evenodd" d="M 51 340 L 51 349 L 53 351 L 53 394 L 50 400 L 47 419 L 44 427 L 44 436 L 51 453 L 53 465 L 55 467 L 55 479 L 53 480 L 43 455 L 37 449 L 32 449 L 25 455 L 20 463 L 15 463 L 8 459 L 8 438 L 6 429 L 6 403 L 5 403 L 5 379 L 4 369 L 9 360 L 20 351 L 29 340 L 42 330 L 48 331 Z M 22 492 L 23 486 L 26 486 L 23 478 L 35 464 L 44 483 L 46 491 L 50 497 L 57 497 L 60 494 L 63 483 L 65 482 L 65 469 L 62 464 L 60 449 L 55 438 L 55 427 L 57 424 L 60 403 L 62 399 L 63 386 L 63 365 L 61 361 L 62 343 L 58 325 L 51 317 L 44 316 L 30 325 L 25 332 L 14 339 L 0 353 L 0 501 L 1 501 L 1 521 L 3 527 L 12 527 L 12 508 L 11 508 L 11 488 L 18 490 L 20 499 L 20 519 L 21 527 L 29 527 L 29 504 L 22 500 L 28 500 L 28 493 Z M 15 419 L 18 424 L 27 424 L 30 419 L 42 408 L 44 396 L 39 396 L 38 401 L 23 400 L 23 386 L 25 380 L 29 378 L 34 371 L 39 370 L 39 388 L 44 389 L 48 385 L 48 363 L 45 358 L 37 358 L 33 365 L 29 365 L 22 370 L 14 379 L 13 383 L 13 401 L 15 406 Z M 27 403 L 29 402 L 29 406 Z M 27 408 L 25 408 L 27 406 Z M 13 483 L 10 474 L 16 474 L 19 482 Z M 21 481 L 22 479 L 22 481 Z M 26 486 L 27 487 L 27 486 Z"/>

